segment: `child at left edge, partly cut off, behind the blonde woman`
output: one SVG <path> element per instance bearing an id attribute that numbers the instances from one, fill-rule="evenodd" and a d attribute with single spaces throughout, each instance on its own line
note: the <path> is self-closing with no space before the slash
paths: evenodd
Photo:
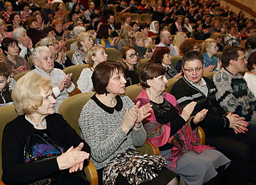
<path id="1" fill-rule="evenodd" d="M 11 91 L 9 90 L 9 69 L 6 64 L 0 62 L 0 107 L 13 104 Z"/>

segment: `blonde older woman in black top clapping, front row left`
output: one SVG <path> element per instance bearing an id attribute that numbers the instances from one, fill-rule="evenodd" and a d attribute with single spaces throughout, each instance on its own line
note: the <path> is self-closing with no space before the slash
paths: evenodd
<path id="1" fill-rule="evenodd" d="M 69 172 L 82 170 L 84 160 L 89 158 L 88 144 L 60 114 L 54 113 L 56 100 L 53 86 L 50 78 L 31 72 L 20 78 L 13 89 L 11 97 L 19 116 L 9 122 L 3 131 L 2 178 L 5 184 L 31 183 L 42 178 L 46 180 L 58 171 L 69 175 Z M 51 142 L 42 143 L 33 133 L 52 139 L 59 150 Z M 33 149 L 34 157 L 56 157 L 30 161 L 31 157 L 24 156 L 24 146 L 30 136 L 30 150 Z"/>

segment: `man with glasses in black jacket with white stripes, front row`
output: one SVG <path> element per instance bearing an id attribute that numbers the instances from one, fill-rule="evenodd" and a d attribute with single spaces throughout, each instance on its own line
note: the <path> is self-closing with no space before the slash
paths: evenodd
<path id="1" fill-rule="evenodd" d="M 246 128 L 247 122 L 238 115 L 226 114 L 216 101 L 216 89 L 210 79 L 202 77 L 203 57 L 197 51 L 188 51 L 182 60 L 184 76 L 172 87 L 181 108 L 195 101 L 193 115 L 203 108 L 208 109 L 205 120 L 199 126 L 205 131 L 205 144 L 216 147 L 231 160 L 226 169 L 226 184 L 246 184 L 249 177 L 255 181 L 255 146 L 256 132 Z M 252 172 L 252 174 L 251 174 Z M 254 179 L 253 179 L 254 178 Z"/>

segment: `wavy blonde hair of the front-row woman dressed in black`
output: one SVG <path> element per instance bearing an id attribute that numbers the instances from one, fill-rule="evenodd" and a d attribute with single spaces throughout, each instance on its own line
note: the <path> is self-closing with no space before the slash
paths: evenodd
<path id="1" fill-rule="evenodd" d="M 42 90 L 49 92 L 54 86 L 53 80 L 36 72 L 29 72 L 16 82 L 11 98 L 18 115 L 31 114 L 43 103 Z"/>

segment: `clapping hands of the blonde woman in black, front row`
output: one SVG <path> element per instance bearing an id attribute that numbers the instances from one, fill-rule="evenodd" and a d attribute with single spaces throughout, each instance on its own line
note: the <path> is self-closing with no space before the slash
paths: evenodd
<path id="1" fill-rule="evenodd" d="M 57 163 L 59 165 L 60 170 L 71 168 L 69 169 L 69 172 L 73 172 L 72 167 L 75 166 L 74 167 L 74 170 L 75 170 L 75 168 L 77 167 L 77 164 L 79 164 L 79 168 L 80 168 L 80 163 L 83 163 L 84 160 L 88 158 L 89 158 L 89 153 L 84 151 L 74 150 L 74 147 L 71 146 L 65 153 L 57 157 Z"/>

